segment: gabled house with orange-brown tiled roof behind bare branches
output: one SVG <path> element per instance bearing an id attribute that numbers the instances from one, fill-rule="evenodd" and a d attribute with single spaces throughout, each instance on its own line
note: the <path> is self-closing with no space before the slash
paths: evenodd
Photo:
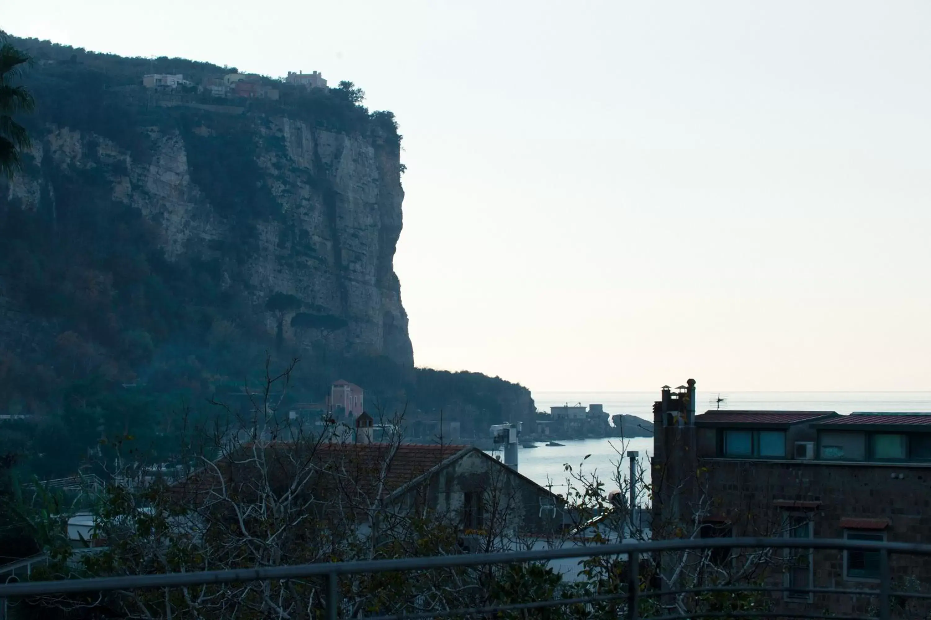
<path id="1" fill-rule="evenodd" d="M 466 445 L 370 442 L 365 429 L 371 422 L 371 416 L 362 414 L 358 441 L 324 442 L 309 453 L 307 446 L 269 444 L 264 449 L 276 455 L 264 459 L 268 468 L 261 471 L 254 458 L 225 455 L 179 484 L 179 496 L 206 500 L 223 493 L 248 499 L 255 476 L 267 476 L 277 488 L 293 475 L 284 464 L 301 462 L 310 476 L 304 486 L 314 495 L 310 510 L 321 520 L 358 509 L 354 522 L 367 527 L 373 507 L 398 516 L 428 513 L 452 526 L 467 550 L 490 542 L 488 528 L 532 537 L 562 529 L 563 500 L 492 455 Z M 251 454 L 253 447 L 240 450 Z M 355 501 L 359 498 L 365 501 Z"/>

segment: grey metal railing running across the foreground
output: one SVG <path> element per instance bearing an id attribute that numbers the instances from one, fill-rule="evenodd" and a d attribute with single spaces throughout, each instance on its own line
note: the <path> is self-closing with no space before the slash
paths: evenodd
<path id="1" fill-rule="evenodd" d="M 768 586 L 709 586 L 679 590 L 664 588 L 644 588 L 639 575 L 641 559 L 648 556 L 658 557 L 668 552 L 685 552 L 716 548 L 739 549 L 830 549 L 839 551 L 867 551 L 879 553 L 878 587 L 852 589 L 835 587 L 768 587 Z M 593 547 L 560 547 L 530 551 L 512 551 L 503 553 L 463 554 L 428 558 L 405 558 L 379 561 L 348 561 L 332 563 L 315 563 L 268 568 L 235 569 L 224 571 L 205 571 L 201 573 L 142 574 L 131 576 L 95 577 L 61 581 L 40 581 L 27 583 L 10 583 L 0 585 L 0 618 L 4 617 L 6 600 L 21 597 L 38 597 L 43 595 L 62 595 L 73 593 L 106 592 L 134 588 L 170 588 L 206 586 L 213 584 L 232 584 L 251 581 L 287 581 L 306 577 L 324 577 L 327 583 L 326 609 L 320 610 L 323 617 L 336 620 L 340 617 L 341 593 L 340 580 L 349 575 L 385 574 L 397 572 L 429 571 L 433 569 L 478 568 L 488 565 L 513 564 L 521 562 L 546 562 L 574 558 L 595 558 L 603 556 L 623 557 L 627 564 L 627 587 L 620 593 L 595 594 L 574 599 L 529 600 L 513 604 L 499 604 L 487 607 L 461 608 L 423 613 L 401 613 L 390 615 L 366 615 L 367 620 L 394 620 L 395 618 L 439 618 L 449 616 L 477 616 L 521 610 L 537 610 L 566 605 L 590 605 L 605 601 L 623 603 L 623 617 L 638 620 L 641 601 L 678 594 L 736 593 L 736 592 L 792 592 L 794 594 L 832 594 L 850 597 L 873 597 L 878 604 L 877 616 L 839 615 L 835 613 L 818 613 L 809 605 L 806 611 L 724 611 L 724 612 L 689 612 L 667 615 L 649 615 L 644 617 L 654 620 L 678 620 L 680 618 L 710 617 L 773 617 L 773 618 L 831 618 L 832 620 L 889 620 L 892 617 L 893 597 L 903 599 L 931 600 L 931 594 L 922 592 L 894 591 L 890 579 L 889 556 L 908 554 L 931 556 L 931 545 L 908 543 L 872 542 L 854 540 L 834 540 L 818 538 L 713 538 L 713 539 L 676 539 L 645 543 L 622 543 Z M 928 575 L 931 577 L 931 575 Z M 618 617 L 622 617 L 618 615 Z"/>

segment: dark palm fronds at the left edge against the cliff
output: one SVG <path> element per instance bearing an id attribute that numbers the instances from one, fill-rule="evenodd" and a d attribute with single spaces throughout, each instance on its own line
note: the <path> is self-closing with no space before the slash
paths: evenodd
<path id="1" fill-rule="evenodd" d="M 29 91 L 13 84 L 31 62 L 29 54 L 8 43 L 0 32 L 0 172 L 7 178 L 22 168 L 20 152 L 32 148 L 26 128 L 13 120 L 13 114 L 35 107 Z"/>

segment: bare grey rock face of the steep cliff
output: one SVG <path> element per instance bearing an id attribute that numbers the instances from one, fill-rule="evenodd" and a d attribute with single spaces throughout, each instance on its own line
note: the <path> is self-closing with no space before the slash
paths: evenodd
<path id="1" fill-rule="evenodd" d="M 412 366 L 392 266 L 404 196 L 397 142 L 287 114 L 205 107 L 160 111 L 161 122 L 137 128 L 142 148 L 44 118 L 34 131 L 32 161 L 0 187 L 0 202 L 47 212 L 54 227 L 62 208 L 57 192 L 75 188 L 59 179 L 78 176 L 86 185 L 92 178 L 95 195 L 107 194 L 153 225 L 169 261 L 196 257 L 219 265 L 219 286 L 245 291 L 270 332 L 277 321 L 263 312 L 264 301 L 290 294 L 304 310 L 348 323 L 326 336 L 330 350 Z M 234 148 L 229 132 L 240 132 Z M 287 318 L 286 338 L 322 337 L 293 334 Z"/>

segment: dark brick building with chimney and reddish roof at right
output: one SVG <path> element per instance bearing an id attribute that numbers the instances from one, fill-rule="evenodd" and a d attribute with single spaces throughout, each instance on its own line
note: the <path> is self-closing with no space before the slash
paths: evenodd
<path id="1" fill-rule="evenodd" d="M 921 543 L 931 536 L 931 414 L 708 411 L 695 381 L 654 403 L 654 537 L 791 536 Z M 663 523 L 665 526 L 657 527 Z M 679 528 L 676 530 L 676 528 Z M 685 534 L 683 534 L 683 532 Z M 725 557 L 726 554 L 725 554 Z M 931 586 L 931 559 L 890 555 L 894 589 Z M 880 553 L 804 550 L 766 573 L 776 609 L 868 614 Z"/>

